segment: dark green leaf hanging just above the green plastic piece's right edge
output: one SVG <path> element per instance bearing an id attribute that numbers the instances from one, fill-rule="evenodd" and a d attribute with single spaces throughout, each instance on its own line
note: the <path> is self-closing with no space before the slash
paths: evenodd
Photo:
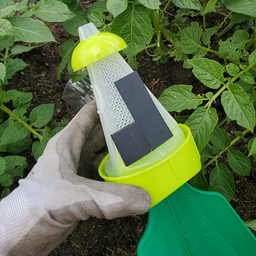
<path id="1" fill-rule="evenodd" d="M 231 201 L 235 195 L 235 182 L 230 171 L 224 164 L 219 164 L 211 171 L 209 191 L 216 191 Z"/>

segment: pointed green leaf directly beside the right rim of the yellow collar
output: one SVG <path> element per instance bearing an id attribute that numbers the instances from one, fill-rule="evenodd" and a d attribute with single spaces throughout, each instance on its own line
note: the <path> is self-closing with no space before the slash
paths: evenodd
<path id="1" fill-rule="evenodd" d="M 208 143 L 210 134 L 211 132 L 213 132 L 214 126 L 216 126 L 217 121 L 218 116 L 216 113 L 216 109 L 206 109 L 204 107 L 198 107 L 185 122 L 185 124 L 190 127 L 199 152 Z"/>

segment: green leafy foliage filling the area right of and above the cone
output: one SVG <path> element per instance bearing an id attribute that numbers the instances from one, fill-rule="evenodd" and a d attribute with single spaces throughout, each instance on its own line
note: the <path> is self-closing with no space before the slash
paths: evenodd
<path id="1" fill-rule="evenodd" d="M 146 50 L 157 64 L 173 58 L 184 61 L 184 67 L 192 70 L 205 93 L 195 95 L 191 85 L 173 85 L 162 93 L 159 101 L 168 111 L 181 112 L 176 119 L 190 127 L 200 151 L 203 167 L 190 183 L 203 190 L 220 192 L 232 200 L 235 183 L 230 171 L 247 176 L 250 162 L 256 159 L 255 138 L 248 142 L 247 156 L 232 150 L 238 141 L 247 143 L 244 136 L 255 127 L 254 1 L 173 0 L 177 11 L 171 20 L 165 16 L 170 1 L 164 6 L 158 0 L 104 0 L 92 4 L 86 12 L 81 12 L 75 0 L 63 2 L 75 13 L 72 25 L 63 23 L 67 31 L 76 31 L 81 25 L 78 21 L 83 20 L 83 24 L 94 23 L 100 31 L 118 34 L 126 40 L 128 47 L 122 54 L 134 69 L 138 66 L 137 54 Z M 223 16 L 213 28 L 207 26 L 210 12 Z M 202 17 L 201 23 L 190 22 L 189 17 L 196 16 L 198 20 Z M 222 39 L 227 32 L 229 36 Z M 58 72 L 60 75 L 67 66 L 74 81 L 87 75 L 85 71 L 76 75 L 69 69 L 77 43 L 69 39 L 61 46 L 63 61 Z M 186 110 L 189 116 L 183 116 Z M 235 138 L 231 139 L 225 131 L 223 125 L 227 122 L 236 123 Z M 227 157 L 225 165 L 219 161 L 223 157 Z"/>

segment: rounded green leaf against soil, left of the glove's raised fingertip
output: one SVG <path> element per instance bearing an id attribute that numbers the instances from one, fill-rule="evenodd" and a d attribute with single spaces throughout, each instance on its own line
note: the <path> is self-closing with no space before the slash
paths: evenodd
<path id="1" fill-rule="evenodd" d="M 48 124 L 53 117 L 54 104 L 42 104 L 34 108 L 29 116 L 31 126 L 40 128 Z"/>

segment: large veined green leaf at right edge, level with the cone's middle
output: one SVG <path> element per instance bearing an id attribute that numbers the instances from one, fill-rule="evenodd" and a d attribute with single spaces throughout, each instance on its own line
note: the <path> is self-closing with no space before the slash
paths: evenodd
<path id="1" fill-rule="evenodd" d="M 254 106 L 241 86 L 237 84 L 228 86 L 228 91 L 222 92 L 221 103 L 228 118 L 235 119 L 239 126 L 254 130 Z"/>

